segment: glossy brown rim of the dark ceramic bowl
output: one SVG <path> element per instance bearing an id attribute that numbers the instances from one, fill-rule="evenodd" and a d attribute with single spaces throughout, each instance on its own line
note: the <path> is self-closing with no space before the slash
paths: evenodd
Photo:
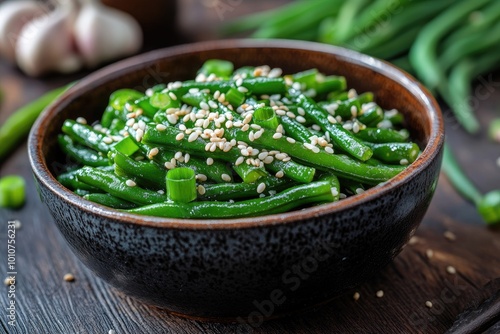
<path id="1" fill-rule="evenodd" d="M 71 102 L 74 96 L 79 95 L 81 92 L 88 92 L 101 85 L 101 83 L 97 84 L 97 82 L 95 82 L 96 79 L 102 80 L 103 78 L 106 78 L 106 81 L 112 81 L 122 76 L 124 74 L 122 72 L 133 72 L 135 69 L 147 66 L 155 60 L 164 57 L 181 56 L 186 53 L 199 53 L 203 51 L 228 48 L 298 49 L 334 54 L 342 61 L 367 67 L 374 72 L 380 73 L 383 76 L 398 82 L 412 95 L 416 96 L 420 100 L 421 104 L 425 106 L 426 114 L 430 120 L 431 127 L 429 141 L 420 156 L 401 173 L 361 194 L 348 197 L 342 201 L 305 208 L 303 210 L 234 219 L 174 219 L 120 212 L 116 209 L 108 208 L 79 197 L 60 184 L 49 171 L 45 158 L 42 154 L 41 145 L 38 145 L 39 139 L 43 137 L 43 129 L 46 127 L 45 124 L 47 124 L 47 122 L 49 122 L 52 117 L 57 114 L 58 110 L 64 109 L 64 107 Z M 386 61 L 342 47 L 315 42 L 277 39 L 230 39 L 197 42 L 158 49 L 121 60 L 92 72 L 78 81 L 74 86 L 68 89 L 56 101 L 48 106 L 42 115 L 37 119 L 29 135 L 28 153 L 33 174 L 37 178 L 38 182 L 43 183 L 43 185 L 54 193 L 60 200 L 68 202 L 73 206 L 77 206 L 79 209 L 87 211 L 88 213 L 101 215 L 107 219 L 120 223 L 139 225 L 143 227 L 173 228 L 183 230 L 213 230 L 244 229 L 278 224 L 293 224 L 296 221 L 302 221 L 326 214 L 335 214 L 340 211 L 351 209 L 357 205 L 374 200 L 379 196 L 383 196 L 398 186 L 411 181 L 411 179 L 413 179 L 419 172 L 422 172 L 434 159 L 438 157 L 443 143 L 443 117 L 439 105 L 432 94 L 413 76 Z"/>

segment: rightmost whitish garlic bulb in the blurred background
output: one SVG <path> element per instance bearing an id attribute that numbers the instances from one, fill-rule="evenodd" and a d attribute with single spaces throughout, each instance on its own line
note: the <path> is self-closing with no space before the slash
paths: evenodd
<path id="1" fill-rule="evenodd" d="M 142 46 L 139 23 L 129 14 L 98 1 L 83 1 L 73 33 L 88 67 L 126 57 Z"/>

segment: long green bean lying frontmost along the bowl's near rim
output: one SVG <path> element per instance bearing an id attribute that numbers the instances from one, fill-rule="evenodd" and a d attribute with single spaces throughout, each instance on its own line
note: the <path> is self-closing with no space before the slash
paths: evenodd
<path id="1" fill-rule="evenodd" d="M 171 218 L 239 218 L 281 213 L 309 203 L 332 201 L 330 182 L 316 181 L 288 188 L 274 196 L 239 202 L 166 202 L 127 210 L 127 212 Z"/>

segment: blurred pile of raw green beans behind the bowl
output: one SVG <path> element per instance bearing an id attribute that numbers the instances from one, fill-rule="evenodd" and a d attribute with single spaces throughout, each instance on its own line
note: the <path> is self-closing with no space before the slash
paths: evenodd
<path id="1" fill-rule="evenodd" d="M 477 133 L 471 83 L 500 65 L 498 22 L 495 0 L 296 0 L 229 22 L 221 34 L 318 41 L 388 60 Z"/>

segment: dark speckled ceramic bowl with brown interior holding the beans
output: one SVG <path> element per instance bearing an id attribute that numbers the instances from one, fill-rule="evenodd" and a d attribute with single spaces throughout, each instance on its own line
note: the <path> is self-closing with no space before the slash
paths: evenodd
<path id="1" fill-rule="evenodd" d="M 318 68 L 373 91 L 401 110 L 421 156 L 385 184 L 337 203 L 257 218 L 144 217 L 83 200 L 54 178 L 64 164 L 56 137 L 66 118 L 96 120 L 111 92 L 193 78 L 203 61 L 268 64 L 284 73 Z M 342 48 L 233 40 L 140 55 L 82 79 L 38 119 L 29 153 L 42 201 L 75 254 L 127 295 L 173 313 L 252 323 L 328 301 L 390 263 L 431 201 L 443 148 L 439 107 L 414 78 Z"/>

